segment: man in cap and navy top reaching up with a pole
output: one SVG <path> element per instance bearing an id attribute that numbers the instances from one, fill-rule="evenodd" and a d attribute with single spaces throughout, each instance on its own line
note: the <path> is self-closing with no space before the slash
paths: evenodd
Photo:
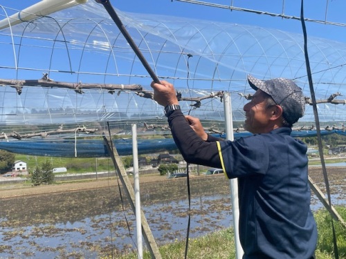
<path id="1" fill-rule="evenodd" d="M 304 115 L 302 90 L 282 78 L 261 81 L 250 75 L 248 83 L 256 93 L 244 106 L 244 128 L 254 135 L 233 142 L 206 134 L 199 119 L 184 116 L 172 84 L 153 82 L 152 88 L 185 161 L 222 168 L 228 178 L 238 178 L 243 258 L 313 258 L 317 230 L 310 210 L 307 146 L 290 135 Z"/>

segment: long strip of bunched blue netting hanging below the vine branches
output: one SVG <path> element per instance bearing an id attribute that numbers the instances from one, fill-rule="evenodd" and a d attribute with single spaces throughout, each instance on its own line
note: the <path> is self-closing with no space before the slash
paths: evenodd
<path id="1" fill-rule="evenodd" d="M 321 131 L 321 135 L 329 134 L 346 135 L 345 131 Z M 215 137 L 226 138 L 225 134 L 213 134 Z M 235 139 L 246 137 L 251 133 L 235 133 Z M 316 137 L 316 131 L 293 131 L 293 137 Z M 178 148 L 172 138 L 155 140 L 138 140 L 138 154 L 151 154 L 161 151 L 174 151 Z M 132 155 L 133 146 L 131 139 L 113 140 L 113 145 L 119 155 Z M 103 140 L 25 140 L 0 142 L 0 149 L 25 155 L 39 155 L 51 157 L 109 157 L 107 146 Z"/>

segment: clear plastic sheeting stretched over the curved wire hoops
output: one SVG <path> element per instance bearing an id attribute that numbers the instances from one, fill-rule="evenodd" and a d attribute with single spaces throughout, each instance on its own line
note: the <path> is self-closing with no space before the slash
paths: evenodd
<path id="1" fill-rule="evenodd" d="M 3 10 L 6 10 L 4 12 Z M 2 9 L 3 19 L 13 10 Z M 233 120 L 244 120 L 246 100 L 253 93 L 246 75 L 260 79 L 288 77 L 310 96 L 300 34 L 176 17 L 117 11 L 136 45 L 161 79 L 172 81 L 183 97 L 204 97 L 218 90 L 231 93 Z M 290 21 L 287 21 L 290 22 Z M 316 99 L 327 99 L 345 88 L 346 46 L 308 37 Z M 140 84 L 152 79 L 138 61 L 103 6 L 88 1 L 49 17 L 0 31 L 0 77 L 73 83 Z M 343 97 L 340 97 L 343 98 Z M 224 120 L 218 98 L 181 102 L 183 111 L 201 119 Z M 192 110 L 192 111 L 190 111 Z M 318 104 L 324 122 L 343 122 L 345 106 Z M 84 94 L 58 88 L 26 87 L 18 95 L 0 87 L 0 124 L 60 124 L 75 122 L 143 122 L 162 118 L 163 109 L 152 99 L 129 91 L 107 90 Z M 313 122 L 311 106 L 302 122 Z"/>

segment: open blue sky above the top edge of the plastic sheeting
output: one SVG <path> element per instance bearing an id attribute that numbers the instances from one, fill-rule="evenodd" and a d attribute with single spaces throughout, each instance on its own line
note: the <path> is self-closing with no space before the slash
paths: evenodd
<path id="1" fill-rule="evenodd" d="M 0 5 L 22 10 L 37 2 L 37 0 L 0 0 Z M 220 5 L 230 5 L 233 3 L 233 6 L 238 8 L 247 8 L 272 13 L 284 12 L 285 15 L 300 17 L 301 0 L 205 0 L 205 2 L 213 2 Z M 284 10 L 282 10 L 282 3 L 284 3 Z M 282 19 L 280 17 L 271 17 L 269 15 L 257 15 L 251 12 L 242 12 L 237 10 L 230 11 L 223 8 L 212 8 L 209 6 L 201 6 L 198 4 L 175 0 L 111 0 L 111 4 L 114 8 L 118 8 L 125 12 L 190 17 L 193 19 L 207 19 L 213 21 L 257 25 L 265 28 L 277 28 L 290 32 L 302 32 L 302 26 L 298 20 Z M 326 10 L 327 21 L 346 23 L 346 17 L 343 15 L 343 12 L 340 12 L 340 10 L 346 10 L 345 0 L 304 1 L 304 17 L 306 18 L 325 20 Z M 307 22 L 307 32 L 309 36 L 346 42 L 346 28 L 342 26 Z"/>

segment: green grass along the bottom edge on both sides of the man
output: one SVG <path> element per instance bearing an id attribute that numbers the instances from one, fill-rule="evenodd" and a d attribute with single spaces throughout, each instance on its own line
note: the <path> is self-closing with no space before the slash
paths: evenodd
<path id="1" fill-rule="evenodd" d="M 346 207 L 336 207 L 343 219 L 346 218 Z M 334 258 L 333 236 L 331 232 L 331 216 L 326 209 L 320 209 L 315 214 L 318 224 L 318 245 L 316 259 Z M 340 222 L 334 221 L 338 242 L 339 258 L 346 258 L 346 228 Z M 233 229 L 222 229 L 206 236 L 192 238 L 188 242 L 188 258 L 201 259 L 234 259 L 235 243 Z M 185 257 L 185 240 L 174 240 L 159 247 L 163 259 L 176 259 Z M 112 256 L 101 256 L 101 259 Z M 137 253 L 118 253 L 113 258 L 136 259 Z M 144 259 L 150 259 L 149 251 L 143 252 Z"/>

